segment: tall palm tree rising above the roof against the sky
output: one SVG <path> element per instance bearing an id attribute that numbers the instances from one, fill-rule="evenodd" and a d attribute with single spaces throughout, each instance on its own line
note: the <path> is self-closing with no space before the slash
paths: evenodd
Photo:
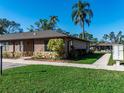
<path id="1" fill-rule="evenodd" d="M 90 9 L 90 4 L 85 1 L 78 1 L 76 4 L 72 7 L 72 20 L 74 21 L 75 25 L 80 24 L 83 28 L 83 38 L 85 39 L 85 29 L 84 25 L 85 23 L 88 24 L 88 26 L 91 23 L 91 18 L 93 17 L 93 12 Z"/>

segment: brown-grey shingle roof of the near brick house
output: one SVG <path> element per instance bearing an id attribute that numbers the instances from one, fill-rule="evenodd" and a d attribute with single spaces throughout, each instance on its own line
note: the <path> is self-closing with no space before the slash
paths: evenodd
<path id="1" fill-rule="evenodd" d="M 67 36 L 65 34 L 56 31 L 39 31 L 39 32 L 23 32 L 23 33 L 13 33 L 0 36 L 0 41 L 6 40 L 22 40 L 22 39 L 43 39 L 43 38 L 59 38 L 59 37 L 69 37 L 73 39 L 82 40 L 79 38 L 74 38 Z M 87 40 L 83 40 L 87 41 Z"/>

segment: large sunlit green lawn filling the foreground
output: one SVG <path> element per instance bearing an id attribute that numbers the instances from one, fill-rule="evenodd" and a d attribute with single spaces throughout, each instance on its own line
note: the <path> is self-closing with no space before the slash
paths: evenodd
<path id="1" fill-rule="evenodd" d="M 55 66 L 4 71 L 0 93 L 124 93 L 124 72 Z"/>

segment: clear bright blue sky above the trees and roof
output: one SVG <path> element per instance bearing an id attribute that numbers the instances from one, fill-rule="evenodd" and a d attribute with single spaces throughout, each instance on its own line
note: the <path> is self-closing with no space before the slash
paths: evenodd
<path id="1" fill-rule="evenodd" d="M 59 17 L 58 27 L 73 34 L 82 32 L 71 19 L 72 5 L 78 0 L 0 0 L 0 18 L 14 20 L 24 31 L 40 18 Z M 92 23 L 86 31 L 102 39 L 111 31 L 124 31 L 124 0 L 85 0 L 93 10 Z"/>

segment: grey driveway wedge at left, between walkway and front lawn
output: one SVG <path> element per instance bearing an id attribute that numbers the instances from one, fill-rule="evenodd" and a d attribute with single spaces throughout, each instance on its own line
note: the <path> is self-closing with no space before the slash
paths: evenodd
<path id="1" fill-rule="evenodd" d="M 26 66 L 26 64 L 3 62 L 3 69 L 14 68 L 14 67 L 20 67 L 20 66 Z"/>

